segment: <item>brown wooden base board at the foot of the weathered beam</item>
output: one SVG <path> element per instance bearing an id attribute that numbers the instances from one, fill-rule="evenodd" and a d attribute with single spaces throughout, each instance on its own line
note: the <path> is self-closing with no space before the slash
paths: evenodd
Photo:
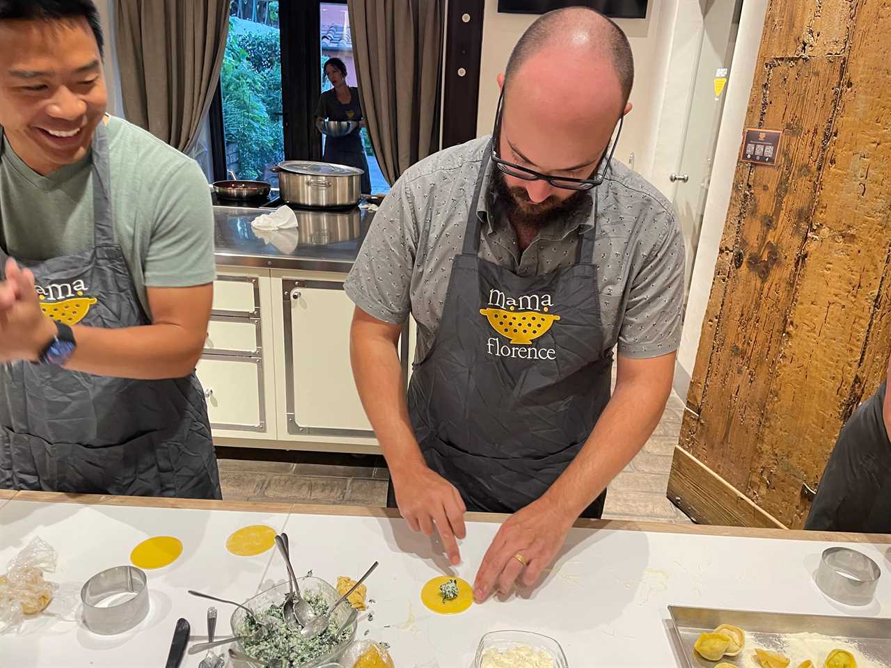
<path id="1" fill-rule="evenodd" d="M 786 528 L 681 448 L 674 449 L 667 496 L 699 524 Z"/>

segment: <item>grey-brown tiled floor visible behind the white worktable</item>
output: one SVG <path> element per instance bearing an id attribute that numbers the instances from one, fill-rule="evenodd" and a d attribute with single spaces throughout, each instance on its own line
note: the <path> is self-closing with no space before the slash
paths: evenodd
<path id="1" fill-rule="evenodd" d="M 690 523 L 666 499 L 682 416 L 673 393 L 650 441 L 609 485 L 604 517 Z M 226 500 L 387 505 L 382 457 L 255 448 L 218 448 L 217 456 Z"/>

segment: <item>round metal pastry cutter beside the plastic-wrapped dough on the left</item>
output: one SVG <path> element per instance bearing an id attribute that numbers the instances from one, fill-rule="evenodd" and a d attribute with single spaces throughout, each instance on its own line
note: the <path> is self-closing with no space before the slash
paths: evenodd
<path id="1" fill-rule="evenodd" d="M 129 631 L 149 614 L 149 586 L 135 566 L 115 566 L 95 574 L 80 590 L 86 628 L 99 635 Z"/>

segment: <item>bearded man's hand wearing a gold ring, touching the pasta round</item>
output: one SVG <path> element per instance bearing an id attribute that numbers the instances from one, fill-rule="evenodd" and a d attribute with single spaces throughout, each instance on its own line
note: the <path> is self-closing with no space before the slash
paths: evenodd
<path id="1" fill-rule="evenodd" d="M 474 599 L 482 603 L 493 591 L 510 593 L 520 575 L 525 586 L 535 584 L 557 556 L 575 520 L 557 509 L 547 496 L 514 513 L 495 534 L 479 566 Z M 526 559 L 525 567 L 514 558 L 518 554 Z"/>

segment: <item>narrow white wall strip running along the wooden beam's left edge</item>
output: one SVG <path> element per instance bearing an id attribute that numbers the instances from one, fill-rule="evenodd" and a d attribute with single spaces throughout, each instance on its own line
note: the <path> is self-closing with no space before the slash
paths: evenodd
<path id="1" fill-rule="evenodd" d="M 708 296 L 715 277 L 715 262 L 723 234 L 727 208 L 730 205 L 733 175 L 740 154 L 742 128 L 746 121 L 748 96 L 755 78 L 758 49 L 764 30 L 764 12 L 768 0 L 746 0 L 742 4 L 740 32 L 737 35 L 733 66 L 727 81 L 721 129 L 715 149 L 715 166 L 706 198 L 702 230 L 699 232 L 699 252 L 693 265 L 690 299 L 683 323 L 681 348 L 678 351 L 674 388 L 685 397 L 690 386 L 693 365 L 699 349 L 702 321 L 705 318 Z"/>

